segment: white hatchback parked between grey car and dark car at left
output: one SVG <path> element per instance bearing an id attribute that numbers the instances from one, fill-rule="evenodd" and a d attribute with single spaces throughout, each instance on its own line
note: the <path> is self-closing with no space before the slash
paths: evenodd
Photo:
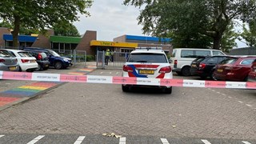
<path id="1" fill-rule="evenodd" d="M 38 69 L 36 58 L 24 50 L 6 49 L 10 54 L 13 54 L 18 61 L 18 71 L 33 72 Z"/>

